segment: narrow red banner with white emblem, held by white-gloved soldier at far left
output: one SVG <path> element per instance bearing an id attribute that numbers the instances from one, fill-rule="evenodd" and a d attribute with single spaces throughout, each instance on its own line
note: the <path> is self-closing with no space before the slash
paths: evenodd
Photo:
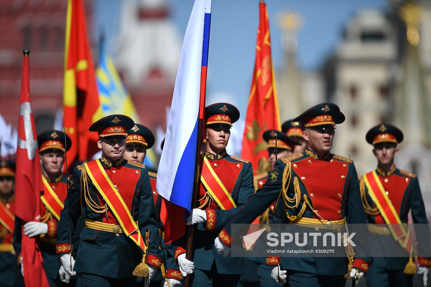
<path id="1" fill-rule="evenodd" d="M 37 135 L 30 104 L 30 80 L 28 76 L 28 54 L 24 51 L 22 66 L 21 94 L 19 96 L 18 147 L 16 150 L 15 175 L 15 215 L 22 221 L 39 221 L 39 199 L 42 186 L 41 164 L 37 149 Z M 28 287 L 48 287 L 42 263 L 42 254 L 36 238 L 29 238 L 22 232 L 22 264 L 24 266 L 24 282 Z"/>

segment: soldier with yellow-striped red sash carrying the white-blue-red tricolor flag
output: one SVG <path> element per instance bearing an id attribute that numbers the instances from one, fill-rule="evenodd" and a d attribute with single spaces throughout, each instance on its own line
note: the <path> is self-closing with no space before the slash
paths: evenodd
<path id="1" fill-rule="evenodd" d="M 214 248 L 217 234 L 254 193 L 251 163 L 226 153 L 230 128 L 239 116 L 238 109 L 228 103 L 205 108 L 207 143 L 200 160 L 198 208 L 192 209 L 186 221 L 187 225 L 197 224 L 193 259 L 185 258 L 185 238 L 174 242 L 180 271 L 192 276 L 191 286 L 237 286 L 244 272 L 243 258 L 223 257 Z"/>

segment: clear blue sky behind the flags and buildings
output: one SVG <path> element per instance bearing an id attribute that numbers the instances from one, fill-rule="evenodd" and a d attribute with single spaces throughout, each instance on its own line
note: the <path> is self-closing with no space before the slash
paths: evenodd
<path id="1" fill-rule="evenodd" d="M 194 0 L 166 0 L 171 17 L 182 38 Z M 278 28 L 279 12 L 300 13 L 303 21 L 298 31 L 298 62 L 301 69 L 318 69 L 342 39 L 345 23 L 358 9 L 375 8 L 384 11 L 385 0 L 266 0 L 270 19 L 272 56 L 275 70 L 281 69 L 283 51 Z M 103 27 L 109 40 L 118 33 L 121 1 L 97 0 L 95 3 L 94 35 Z M 253 73 L 256 30 L 259 21 L 259 0 L 213 0 L 207 104 L 228 101 L 238 107 L 245 118 L 247 99 Z"/>

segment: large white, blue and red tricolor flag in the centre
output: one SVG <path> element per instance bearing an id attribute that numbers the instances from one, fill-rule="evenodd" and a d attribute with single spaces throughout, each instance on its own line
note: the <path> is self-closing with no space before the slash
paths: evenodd
<path id="1" fill-rule="evenodd" d="M 203 119 L 211 0 L 195 0 L 184 35 L 156 190 L 165 199 L 161 220 L 165 244 L 185 234 L 191 212 L 198 142 Z M 199 139 L 202 140 L 202 139 Z"/>

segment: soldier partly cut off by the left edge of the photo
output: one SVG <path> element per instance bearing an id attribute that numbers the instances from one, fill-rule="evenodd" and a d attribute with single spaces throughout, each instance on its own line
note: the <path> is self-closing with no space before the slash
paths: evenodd
<path id="1" fill-rule="evenodd" d="M 15 163 L 0 161 L 0 278 L 1 286 L 24 286 L 17 264 L 16 252 L 12 247 L 14 232 L 13 196 L 15 185 Z"/>

